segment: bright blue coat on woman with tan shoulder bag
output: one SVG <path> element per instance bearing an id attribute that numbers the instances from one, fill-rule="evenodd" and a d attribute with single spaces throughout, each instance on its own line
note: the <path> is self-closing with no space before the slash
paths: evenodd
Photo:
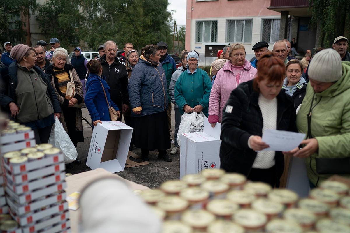
<path id="1" fill-rule="evenodd" d="M 109 109 L 101 82 L 106 92 L 110 107 L 119 111 L 117 105 L 111 101 L 110 87 L 105 81 L 105 76 L 100 77 L 97 74 L 90 74 L 86 82 L 86 95 L 84 98 L 87 110 L 89 110 L 92 121 L 111 121 Z"/>

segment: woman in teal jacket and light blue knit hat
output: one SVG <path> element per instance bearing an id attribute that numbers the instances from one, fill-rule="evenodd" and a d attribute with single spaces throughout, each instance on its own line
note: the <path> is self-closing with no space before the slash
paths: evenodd
<path id="1" fill-rule="evenodd" d="M 187 54 L 187 71 L 180 74 L 175 85 L 175 101 L 181 115 L 184 112 L 203 112 L 208 117 L 210 78 L 204 70 L 198 68 L 198 53 Z"/>

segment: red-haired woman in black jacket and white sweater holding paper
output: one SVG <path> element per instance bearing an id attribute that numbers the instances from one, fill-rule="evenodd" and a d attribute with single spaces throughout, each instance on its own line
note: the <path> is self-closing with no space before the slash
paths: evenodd
<path id="1" fill-rule="evenodd" d="M 231 92 L 221 126 L 221 168 L 227 172 L 279 187 L 282 152 L 261 151 L 268 147 L 261 136 L 265 130 L 296 131 L 293 100 L 281 92 L 285 77 L 283 62 L 266 53 L 260 58 L 255 79 Z"/>

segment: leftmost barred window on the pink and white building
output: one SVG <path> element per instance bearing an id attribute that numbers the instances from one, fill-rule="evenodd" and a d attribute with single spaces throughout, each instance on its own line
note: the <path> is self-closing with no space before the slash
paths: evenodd
<path id="1" fill-rule="evenodd" d="M 218 21 L 196 21 L 196 42 L 217 42 Z"/>

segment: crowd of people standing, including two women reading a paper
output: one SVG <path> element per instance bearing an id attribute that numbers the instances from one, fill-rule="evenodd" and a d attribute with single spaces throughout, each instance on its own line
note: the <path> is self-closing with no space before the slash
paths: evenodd
<path id="1" fill-rule="evenodd" d="M 141 51 L 127 42 L 119 57 L 117 44 L 106 41 L 90 61 L 78 46 L 69 59 L 59 39 L 49 44 L 47 51 L 44 41 L 33 48 L 5 42 L 0 63 L 1 108 L 31 127 L 37 144 L 47 143 L 55 117 L 75 146 L 84 142 L 82 108 L 87 107 L 94 127 L 123 116 L 134 129 L 130 150 L 141 148 L 143 160 L 158 150 L 159 159 L 171 162 L 173 103 L 170 154 L 180 150 L 181 115 L 197 112 L 213 128 L 222 124 L 219 156 L 228 172 L 278 187 L 288 155 L 305 159 L 311 188 L 330 174 L 350 176 L 349 168 L 337 169 L 350 161 L 350 53 L 343 36 L 335 38 L 332 49 L 307 50 L 301 61 L 295 58 L 300 55 L 295 38 L 276 41 L 271 51 L 269 43 L 256 43 L 251 61 L 243 44 L 226 45 L 210 76 L 198 67 L 195 50 L 182 51 L 176 69 L 162 41 Z M 301 148 L 265 151 L 265 130 L 307 137 Z"/>

